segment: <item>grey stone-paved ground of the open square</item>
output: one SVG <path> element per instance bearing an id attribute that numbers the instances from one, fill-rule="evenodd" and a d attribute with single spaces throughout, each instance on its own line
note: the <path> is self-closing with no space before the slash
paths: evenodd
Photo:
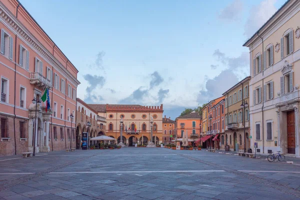
<path id="1" fill-rule="evenodd" d="M 298 164 L 142 147 L 38 155 L 0 157 L 0 199 L 300 198 Z"/>

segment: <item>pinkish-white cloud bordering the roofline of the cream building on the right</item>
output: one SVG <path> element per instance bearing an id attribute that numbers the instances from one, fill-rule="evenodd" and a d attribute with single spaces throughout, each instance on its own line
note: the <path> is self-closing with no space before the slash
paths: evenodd
<path id="1" fill-rule="evenodd" d="M 258 5 L 253 5 L 244 26 L 244 35 L 251 37 L 276 11 L 276 0 L 263 0 Z"/>

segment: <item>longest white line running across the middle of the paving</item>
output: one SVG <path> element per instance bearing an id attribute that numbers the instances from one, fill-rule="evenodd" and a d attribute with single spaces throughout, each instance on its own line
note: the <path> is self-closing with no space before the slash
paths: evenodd
<path id="1" fill-rule="evenodd" d="M 170 172 L 224 172 L 224 170 L 157 170 L 157 171 L 57 171 L 50 172 L 55 174 L 63 174 L 63 173 L 170 173 Z"/>

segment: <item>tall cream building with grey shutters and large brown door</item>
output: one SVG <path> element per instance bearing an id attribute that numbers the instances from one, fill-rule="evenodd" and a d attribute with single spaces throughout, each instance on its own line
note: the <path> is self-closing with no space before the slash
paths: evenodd
<path id="1" fill-rule="evenodd" d="M 257 151 L 299 157 L 300 1 L 288 0 L 248 39 L 250 135 Z"/>

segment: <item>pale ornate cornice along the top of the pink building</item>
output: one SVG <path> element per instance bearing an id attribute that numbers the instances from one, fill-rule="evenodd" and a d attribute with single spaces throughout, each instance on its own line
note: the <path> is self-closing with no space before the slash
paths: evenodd
<path id="1" fill-rule="evenodd" d="M 0 1 L 0 19 L 10 26 L 11 31 L 17 34 L 37 54 L 41 55 L 57 71 L 67 77 L 77 87 L 80 82 L 30 33 L 30 31 L 3 5 Z"/>

